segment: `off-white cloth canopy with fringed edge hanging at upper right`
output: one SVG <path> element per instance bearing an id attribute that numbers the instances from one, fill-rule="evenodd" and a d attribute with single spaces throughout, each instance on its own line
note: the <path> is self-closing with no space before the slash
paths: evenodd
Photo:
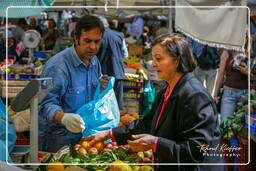
<path id="1" fill-rule="evenodd" d="M 244 50 L 249 14 L 244 1 L 176 0 L 176 5 L 215 6 L 176 8 L 176 30 L 209 46 Z"/>

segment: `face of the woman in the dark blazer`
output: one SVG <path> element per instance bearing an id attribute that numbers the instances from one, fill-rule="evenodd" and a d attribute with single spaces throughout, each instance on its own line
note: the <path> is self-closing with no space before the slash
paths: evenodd
<path id="1" fill-rule="evenodd" d="M 156 69 L 158 78 L 170 81 L 177 73 L 179 60 L 173 59 L 160 44 L 153 47 L 152 58 L 152 66 Z"/>

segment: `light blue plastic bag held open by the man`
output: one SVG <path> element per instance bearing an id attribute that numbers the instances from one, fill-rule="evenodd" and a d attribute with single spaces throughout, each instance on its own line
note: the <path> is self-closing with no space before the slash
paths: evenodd
<path id="1" fill-rule="evenodd" d="M 76 111 L 85 122 L 83 137 L 118 126 L 120 113 L 113 89 L 114 82 L 115 78 L 110 77 L 108 86 L 102 93 L 99 84 L 93 100 Z"/>

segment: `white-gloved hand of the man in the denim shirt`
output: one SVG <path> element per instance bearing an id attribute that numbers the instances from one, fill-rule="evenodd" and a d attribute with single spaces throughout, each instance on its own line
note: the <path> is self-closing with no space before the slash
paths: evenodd
<path id="1" fill-rule="evenodd" d="M 82 132 L 85 127 L 84 120 L 75 113 L 64 113 L 61 123 L 65 125 L 65 127 L 74 133 Z"/>

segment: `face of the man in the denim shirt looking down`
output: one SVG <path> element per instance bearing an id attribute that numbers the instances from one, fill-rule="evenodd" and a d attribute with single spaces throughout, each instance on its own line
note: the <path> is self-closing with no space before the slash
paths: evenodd
<path id="1" fill-rule="evenodd" d="M 75 45 L 78 56 L 83 60 L 92 59 L 99 51 L 102 33 L 95 28 L 89 31 L 82 31 L 80 38 L 75 37 Z"/>

